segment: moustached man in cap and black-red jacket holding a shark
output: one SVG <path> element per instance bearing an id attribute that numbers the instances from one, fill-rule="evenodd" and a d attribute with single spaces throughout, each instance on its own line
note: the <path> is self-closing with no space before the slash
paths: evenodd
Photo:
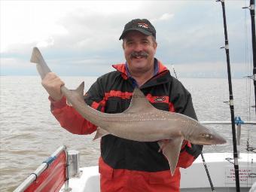
<path id="1" fill-rule="evenodd" d="M 132 20 L 120 36 L 126 63 L 114 65 L 110 72 L 90 87 L 84 96 L 92 108 L 105 113 L 120 113 L 130 105 L 135 87 L 147 96 L 155 108 L 175 111 L 197 119 L 190 93 L 173 78 L 169 70 L 154 58 L 157 50 L 156 30 L 148 20 Z M 66 130 L 90 134 L 96 126 L 85 120 L 62 96 L 64 84 L 49 73 L 42 81 L 50 94 L 51 111 Z M 157 142 L 135 142 L 116 136 L 103 136 L 99 172 L 101 191 L 179 191 L 179 167 L 186 168 L 197 158 L 202 146 L 183 142 L 175 174 L 159 151 Z"/>

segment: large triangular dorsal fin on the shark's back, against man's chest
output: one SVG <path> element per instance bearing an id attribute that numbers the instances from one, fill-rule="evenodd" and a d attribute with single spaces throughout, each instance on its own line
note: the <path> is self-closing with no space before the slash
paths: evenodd
<path id="1" fill-rule="evenodd" d="M 142 93 L 141 90 L 138 88 L 135 88 L 133 91 L 133 97 L 130 102 L 129 108 L 126 109 L 126 111 L 123 111 L 123 113 L 126 114 L 134 114 L 141 111 L 157 111 L 157 108 L 154 108 L 153 105 L 146 99 L 144 93 Z"/>

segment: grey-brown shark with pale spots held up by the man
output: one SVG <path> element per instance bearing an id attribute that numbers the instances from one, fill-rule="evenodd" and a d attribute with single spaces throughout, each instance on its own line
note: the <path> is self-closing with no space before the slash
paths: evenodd
<path id="1" fill-rule="evenodd" d="M 51 72 L 37 47 L 32 50 L 31 62 L 35 62 L 41 79 Z M 135 88 L 129 108 L 122 113 L 108 114 L 91 108 L 84 102 L 84 82 L 76 90 L 62 86 L 61 92 L 82 117 L 98 126 L 98 139 L 111 134 L 138 142 L 158 142 L 160 151 L 169 162 L 171 174 L 175 172 L 181 145 L 184 140 L 195 145 L 218 145 L 226 140 L 184 114 L 154 108 L 139 88 Z"/>

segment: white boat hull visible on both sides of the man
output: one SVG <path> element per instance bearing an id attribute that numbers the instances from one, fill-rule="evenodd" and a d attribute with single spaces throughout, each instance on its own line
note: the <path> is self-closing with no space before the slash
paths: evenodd
<path id="1" fill-rule="evenodd" d="M 226 158 L 233 158 L 233 154 L 209 153 L 204 154 L 204 157 L 215 191 L 236 191 L 233 160 L 226 160 Z M 240 191 L 248 191 L 251 185 L 256 182 L 256 154 L 240 154 L 239 170 Z M 69 180 L 69 187 L 72 188 L 72 191 L 99 192 L 98 166 L 81 168 L 81 172 L 80 177 L 70 178 Z M 181 192 L 192 191 L 212 191 L 201 157 L 198 157 L 189 168 L 181 169 Z"/>

